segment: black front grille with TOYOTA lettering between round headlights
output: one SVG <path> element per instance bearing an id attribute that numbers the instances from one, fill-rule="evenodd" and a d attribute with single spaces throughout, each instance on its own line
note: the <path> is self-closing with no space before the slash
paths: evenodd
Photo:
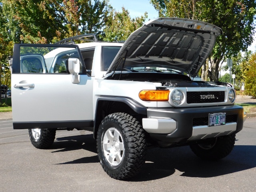
<path id="1" fill-rule="evenodd" d="M 224 102 L 224 91 L 187 92 L 187 103 L 215 103 Z"/>

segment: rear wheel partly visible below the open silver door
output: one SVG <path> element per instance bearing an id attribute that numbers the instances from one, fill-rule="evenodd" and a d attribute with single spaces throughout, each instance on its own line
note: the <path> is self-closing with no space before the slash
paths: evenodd
<path id="1" fill-rule="evenodd" d="M 56 129 L 29 129 L 28 134 L 35 148 L 46 149 L 54 142 Z"/>

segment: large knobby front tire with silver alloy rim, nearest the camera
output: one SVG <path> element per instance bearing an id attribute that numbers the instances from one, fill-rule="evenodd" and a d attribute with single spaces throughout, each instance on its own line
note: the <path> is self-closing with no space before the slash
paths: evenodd
<path id="1" fill-rule="evenodd" d="M 104 171 L 112 178 L 138 174 L 145 163 L 146 138 L 140 123 L 125 113 L 102 120 L 97 134 L 97 152 Z"/>

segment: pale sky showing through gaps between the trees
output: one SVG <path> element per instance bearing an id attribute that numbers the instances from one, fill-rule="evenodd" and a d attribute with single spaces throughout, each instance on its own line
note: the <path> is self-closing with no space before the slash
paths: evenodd
<path id="1" fill-rule="evenodd" d="M 122 6 L 124 6 L 124 8 L 130 12 L 131 18 L 144 16 L 145 12 L 148 12 L 146 22 L 149 19 L 158 18 L 158 12 L 155 10 L 152 4 L 150 4 L 150 0 L 109 0 L 109 3 L 116 11 L 122 11 Z M 256 34 L 254 34 L 254 42 L 250 47 L 248 47 L 248 50 L 256 52 L 255 46 Z"/>

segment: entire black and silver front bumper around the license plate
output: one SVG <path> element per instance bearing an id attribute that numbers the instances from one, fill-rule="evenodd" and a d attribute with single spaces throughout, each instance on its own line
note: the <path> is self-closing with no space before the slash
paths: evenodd
<path id="1" fill-rule="evenodd" d="M 226 125 L 208 126 L 210 113 L 226 112 Z M 148 108 L 148 118 L 142 119 L 142 126 L 151 138 L 164 142 L 200 140 L 239 132 L 246 118 L 244 109 L 237 105 L 207 106 L 196 108 Z M 196 120 L 205 124 L 197 124 Z M 207 122 L 206 122 L 207 121 Z"/>

